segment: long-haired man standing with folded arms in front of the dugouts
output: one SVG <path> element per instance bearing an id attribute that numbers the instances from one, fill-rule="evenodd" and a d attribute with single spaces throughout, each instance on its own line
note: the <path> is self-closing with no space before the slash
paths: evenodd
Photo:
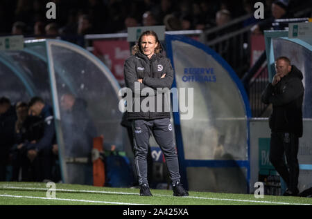
<path id="1" fill-rule="evenodd" d="M 166 99 L 166 92 L 173 83 L 173 68 L 168 58 L 162 55 L 162 45 L 157 34 L 153 31 L 146 31 L 141 34 L 136 46 L 132 50 L 132 55 L 125 60 L 124 75 L 125 86 L 132 91 L 132 97 L 137 97 L 139 93 L 139 104 L 148 104 L 147 110 L 135 107 L 132 103 L 132 110 L 128 110 L 128 120 L 132 121 L 132 131 L 134 135 L 135 166 L 139 178 L 140 195 L 152 196 L 147 180 L 148 143 L 150 132 L 153 133 L 157 144 L 164 152 L 166 164 L 173 185 L 173 196 L 189 196 L 180 182 L 179 164 L 177 152 L 173 142 L 173 129 L 170 122 L 170 102 Z M 141 92 L 149 89 L 149 95 Z M 138 92 L 139 91 L 139 92 Z M 161 95 L 161 96 L 159 96 Z M 159 102 L 159 98 L 162 102 Z"/>

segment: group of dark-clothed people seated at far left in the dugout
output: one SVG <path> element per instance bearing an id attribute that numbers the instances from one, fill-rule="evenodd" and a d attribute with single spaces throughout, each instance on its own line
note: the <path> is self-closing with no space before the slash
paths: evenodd
<path id="1" fill-rule="evenodd" d="M 40 97 L 0 97 L 0 148 L 0 181 L 60 180 L 53 112 Z"/>

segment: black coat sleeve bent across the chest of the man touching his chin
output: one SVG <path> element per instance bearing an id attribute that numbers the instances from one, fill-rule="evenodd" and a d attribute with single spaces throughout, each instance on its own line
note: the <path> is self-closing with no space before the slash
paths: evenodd
<path id="1" fill-rule="evenodd" d="M 304 93 L 304 88 L 302 82 L 299 78 L 293 78 L 289 80 L 286 87 L 283 88 L 281 93 L 271 95 L 269 97 L 269 102 L 274 106 L 282 106 L 288 104 L 293 100 L 297 99 Z"/>

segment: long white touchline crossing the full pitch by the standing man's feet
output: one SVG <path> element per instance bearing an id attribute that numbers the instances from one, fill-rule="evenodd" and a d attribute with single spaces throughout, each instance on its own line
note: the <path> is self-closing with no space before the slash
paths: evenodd
<path id="1" fill-rule="evenodd" d="M 27 188 L 27 187 L 1 187 L 3 189 L 21 189 L 21 190 L 37 190 L 37 191 L 46 191 L 46 188 Z M 92 191 L 92 190 L 75 190 L 75 189 L 49 189 L 49 191 L 69 191 L 76 193 L 105 193 L 105 194 L 120 194 L 120 195 L 135 195 L 139 196 L 139 193 L 125 193 L 119 191 Z M 155 194 L 154 196 L 165 196 L 172 197 L 168 195 Z M 221 201 L 232 201 L 232 202 L 254 202 L 254 203 L 267 203 L 267 204 L 293 204 L 293 205 L 312 205 L 304 203 L 290 203 L 290 202 L 270 202 L 270 201 L 258 201 L 258 200 L 243 200 L 243 199 L 229 199 L 229 198 L 207 198 L 207 197 L 198 197 L 198 196 L 186 196 L 181 198 L 195 198 L 195 199 L 206 199 L 206 200 L 221 200 Z"/>

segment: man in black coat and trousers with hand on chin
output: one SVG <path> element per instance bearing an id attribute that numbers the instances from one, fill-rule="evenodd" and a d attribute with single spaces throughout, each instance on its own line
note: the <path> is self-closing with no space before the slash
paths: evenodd
<path id="1" fill-rule="evenodd" d="M 287 57 L 275 62 L 276 75 L 261 95 L 265 104 L 272 104 L 270 115 L 270 162 L 284 179 L 288 188 L 284 196 L 297 196 L 299 137 L 302 137 L 302 102 L 304 86 L 302 73 Z M 284 162 L 286 154 L 287 166 Z"/>

